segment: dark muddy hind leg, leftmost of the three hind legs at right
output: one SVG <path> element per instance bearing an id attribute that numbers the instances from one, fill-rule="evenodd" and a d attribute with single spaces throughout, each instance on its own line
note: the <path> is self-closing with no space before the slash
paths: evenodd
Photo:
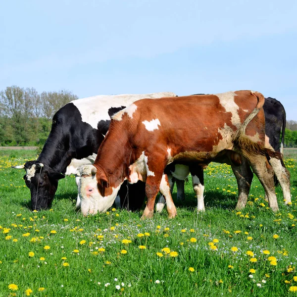
<path id="1" fill-rule="evenodd" d="M 242 157 L 242 164 L 239 166 L 231 162 L 231 168 L 236 177 L 238 185 L 238 201 L 236 204 L 236 209 L 242 209 L 247 205 L 247 198 L 253 174 L 250 170 L 247 159 L 244 157 Z"/>

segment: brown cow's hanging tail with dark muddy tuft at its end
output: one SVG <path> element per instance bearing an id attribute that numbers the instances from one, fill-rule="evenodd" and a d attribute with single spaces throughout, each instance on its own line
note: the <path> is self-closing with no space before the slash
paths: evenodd
<path id="1" fill-rule="evenodd" d="M 255 96 L 258 100 L 256 107 L 253 111 L 248 115 L 240 129 L 237 131 L 235 139 L 234 139 L 234 146 L 240 150 L 240 152 L 248 157 L 250 154 L 260 154 L 270 158 L 277 158 L 282 159 L 282 153 L 278 151 L 274 151 L 270 148 L 265 148 L 264 146 L 251 141 L 246 135 L 245 131 L 247 128 L 248 123 L 258 114 L 260 109 L 263 107 L 265 98 L 259 92 L 251 92 L 251 95 Z"/>

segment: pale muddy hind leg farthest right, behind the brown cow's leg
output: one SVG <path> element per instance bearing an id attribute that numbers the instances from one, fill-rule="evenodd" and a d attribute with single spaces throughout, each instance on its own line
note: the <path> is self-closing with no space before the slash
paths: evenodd
<path id="1" fill-rule="evenodd" d="M 270 158 L 269 163 L 282 187 L 285 204 L 288 204 L 291 202 L 290 172 L 282 165 L 281 160 Z"/>

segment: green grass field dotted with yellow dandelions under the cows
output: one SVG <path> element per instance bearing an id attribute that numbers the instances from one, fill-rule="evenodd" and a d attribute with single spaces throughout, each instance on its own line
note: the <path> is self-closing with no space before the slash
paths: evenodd
<path id="1" fill-rule="evenodd" d="M 212 163 L 204 213 L 189 182 L 177 218 L 163 210 L 141 221 L 142 210 L 83 217 L 74 177 L 59 182 L 50 210 L 30 211 L 25 171 L 10 166 L 36 152 L 1 150 L 0 297 L 297 296 L 297 150 L 285 157 L 293 203 L 276 188 L 277 213 L 256 177 L 237 212 L 231 168 Z"/>

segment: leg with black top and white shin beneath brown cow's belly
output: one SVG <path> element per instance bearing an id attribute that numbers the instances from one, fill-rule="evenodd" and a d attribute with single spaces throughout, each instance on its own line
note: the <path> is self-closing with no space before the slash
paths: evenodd
<path id="1" fill-rule="evenodd" d="M 203 167 L 200 165 L 190 166 L 193 189 L 197 196 L 197 211 L 205 211 L 204 207 L 204 176 Z"/>

